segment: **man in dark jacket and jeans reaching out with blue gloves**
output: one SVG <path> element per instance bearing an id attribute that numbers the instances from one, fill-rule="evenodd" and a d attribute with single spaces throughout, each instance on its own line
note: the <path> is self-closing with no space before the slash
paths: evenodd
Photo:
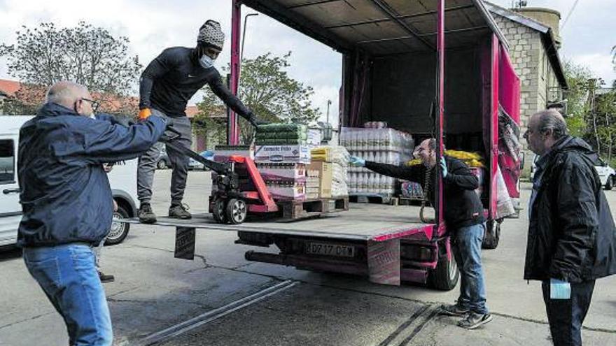
<path id="1" fill-rule="evenodd" d="M 376 173 L 419 182 L 428 192 L 428 200 L 435 203 L 436 140 L 426 139 L 416 148 L 415 155 L 423 164 L 393 166 L 351 157 L 353 166 L 365 166 Z M 475 189 L 479 180 L 468 166 L 453 157 L 441 157 L 443 177 L 444 221 L 451 236 L 454 257 L 461 275 L 460 296 L 456 304 L 442 305 L 444 315 L 463 317 L 458 326 L 475 329 L 492 320 L 486 307 L 484 273 L 481 262 L 481 245 L 485 233 L 483 206 Z"/>

